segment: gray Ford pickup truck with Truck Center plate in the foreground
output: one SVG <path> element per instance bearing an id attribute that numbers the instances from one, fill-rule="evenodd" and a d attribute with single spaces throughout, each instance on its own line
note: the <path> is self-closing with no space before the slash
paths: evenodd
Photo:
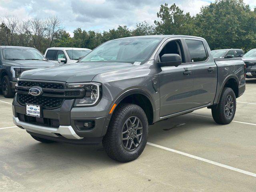
<path id="1" fill-rule="evenodd" d="M 110 158 L 128 162 L 160 120 L 207 107 L 216 123 L 230 123 L 244 66 L 240 58 L 215 61 L 200 37 L 111 40 L 78 63 L 23 72 L 13 121 L 40 142 L 102 142 Z"/>

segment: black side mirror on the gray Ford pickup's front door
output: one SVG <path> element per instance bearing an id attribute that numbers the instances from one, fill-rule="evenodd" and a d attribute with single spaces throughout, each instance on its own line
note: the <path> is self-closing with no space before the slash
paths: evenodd
<path id="1" fill-rule="evenodd" d="M 179 66 L 182 64 L 182 60 L 180 55 L 178 54 L 164 54 L 161 56 L 161 62 L 158 63 L 160 67 L 167 67 L 167 66 Z"/>

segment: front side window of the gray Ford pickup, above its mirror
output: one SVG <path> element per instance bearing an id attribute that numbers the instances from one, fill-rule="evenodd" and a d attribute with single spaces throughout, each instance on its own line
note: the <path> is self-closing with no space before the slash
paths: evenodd
<path id="1" fill-rule="evenodd" d="M 161 50 L 159 54 L 160 60 L 161 60 L 161 56 L 164 54 L 178 54 L 182 59 L 182 63 L 185 63 L 182 45 L 181 45 L 181 42 L 178 40 L 170 41 L 164 46 L 164 48 Z"/>

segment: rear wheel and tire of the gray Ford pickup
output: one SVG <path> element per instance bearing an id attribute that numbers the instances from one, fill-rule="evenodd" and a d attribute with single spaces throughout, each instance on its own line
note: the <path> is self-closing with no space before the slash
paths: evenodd
<path id="1" fill-rule="evenodd" d="M 212 108 L 212 117 L 218 124 L 229 124 L 236 113 L 236 95 L 234 91 L 225 87 L 216 108 Z"/>

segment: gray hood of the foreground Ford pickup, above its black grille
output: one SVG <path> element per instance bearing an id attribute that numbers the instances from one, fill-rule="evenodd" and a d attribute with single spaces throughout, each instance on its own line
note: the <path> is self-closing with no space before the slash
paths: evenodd
<path id="1" fill-rule="evenodd" d="M 25 71 L 20 79 L 52 80 L 63 82 L 91 82 L 100 73 L 135 67 L 130 63 L 84 62 L 46 69 Z"/>

